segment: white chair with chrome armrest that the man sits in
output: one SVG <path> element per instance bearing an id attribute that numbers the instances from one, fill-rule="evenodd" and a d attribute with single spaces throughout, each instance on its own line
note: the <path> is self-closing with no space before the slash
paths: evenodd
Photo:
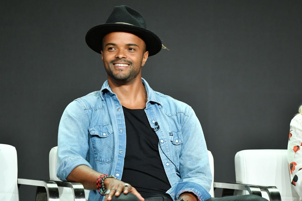
<path id="1" fill-rule="evenodd" d="M 49 152 L 49 176 L 50 180 L 53 181 L 60 181 L 59 178 L 56 176 L 56 164 L 57 164 L 57 152 L 58 147 L 53 147 Z M 217 183 L 214 182 L 214 159 L 213 155 L 210 151 L 208 151 L 209 156 L 209 163 L 210 163 L 210 170 L 213 176 L 211 189 L 209 191 L 210 195 L 214 197 L 214 188 L 225 188 L 225 189 L 236 189 L 236 190 L 247 190 L 250 194 L 256 194 L 261 196 L 261 191 L 259 187 L 253 186 L 253 185 L 243 185 L 243 184 L 228 184 L 228 183 Z M 65 190 L 65 189 L 64 189 Z M 59 193 L 60 193 L 60 200 L 72 200 L 71 197 L 71 191 L 67 189 L 66 191 L 63 191 L 59 187 Z M 89 190 L 85 190 L 85 197 L 86 200 L 88 199 Z"/>

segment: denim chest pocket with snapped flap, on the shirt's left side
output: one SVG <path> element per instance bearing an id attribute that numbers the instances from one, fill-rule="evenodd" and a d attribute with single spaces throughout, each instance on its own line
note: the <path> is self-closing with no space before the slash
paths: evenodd
<path id="1" fill-rule="evenodd" d="M 111 124 L 89 128 L 95 160 L 111 163 L 114 158 L 114 134 Z"/>

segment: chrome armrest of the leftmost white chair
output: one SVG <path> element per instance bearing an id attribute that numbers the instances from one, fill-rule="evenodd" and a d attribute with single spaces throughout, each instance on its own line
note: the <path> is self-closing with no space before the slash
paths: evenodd
<path id="1" fill-rule="evenodd" d="M 18 183 L 18 187 L 20 187 L 21 184 L 37 186 L 37 189 L 38 187 L 43 187 L 43 192 L 45 192 L 46 190 L 47 200 L 59 201 L 58 185 L 53 181 L 39 181 L 39 180 L 18 178 L 17 183 Z M 37 198 L 37 194 L 36 194 L 36 198 Z"/>

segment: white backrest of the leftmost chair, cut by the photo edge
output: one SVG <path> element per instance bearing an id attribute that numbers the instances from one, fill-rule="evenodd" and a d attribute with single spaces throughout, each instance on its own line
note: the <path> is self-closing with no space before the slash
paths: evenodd
<path id="1" fill-rule="evenodd" d="M 17 151 L 14 146 L 0 144 L 0 200 L 19 200 Z"/>

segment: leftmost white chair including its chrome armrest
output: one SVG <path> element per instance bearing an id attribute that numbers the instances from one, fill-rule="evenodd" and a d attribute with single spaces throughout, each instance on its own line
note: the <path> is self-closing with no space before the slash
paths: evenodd
<path id="1" fill-rule="evenodd" d="M 55 182 L 18 179 L 17 151 L 14 146 L 0 144 L 0 161 L 0 200 L 18 201 L 18 187 L 25 184 L 41 187 L 37 188 L 37 200 L 59 201 Z"/>

